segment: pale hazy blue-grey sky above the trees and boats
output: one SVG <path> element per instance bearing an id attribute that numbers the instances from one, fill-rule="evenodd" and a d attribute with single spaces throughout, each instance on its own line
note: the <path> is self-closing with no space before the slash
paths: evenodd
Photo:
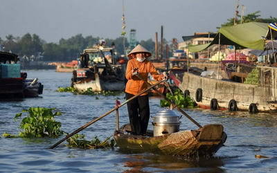
<path id="1" fill-rule="evenodd" d="M 124 0 L 127 36 L 154 40 L 161 33 L 170 41 L 195 32 L 216 32 L 234 16 L 236 0 Z M 240 0 L 244 14 L 260 10 L 262 18 L 277 17 L 277 0 Z M 122 0 L 0 0 L 0 37 L 37 34 L 58 42 L 81 33 L 84 37 L 120 37 Z"/>

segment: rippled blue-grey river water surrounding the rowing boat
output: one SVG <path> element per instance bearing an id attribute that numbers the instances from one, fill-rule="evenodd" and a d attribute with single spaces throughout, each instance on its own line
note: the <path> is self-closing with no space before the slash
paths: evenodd
<path id="1" fill-rule="evenodd" d="M 62 116 L 62 129 L 68 133 L 101 116 L 114 107 L 124 95 L 96 96 L 58 93 L 58 86 L 69 86 L 71 73 L 53 70 L 26 71 L 28 78 L 39 78 L 44 93 L 39 98 L 22 102 L 0 102 L 0 134 L 19 133 L 16 113 L 29 107 L 55 107 Z M 150 99 L 151 115 L 161 111 L 159 98 Z M 277 172 L 277 115 L 246 112 L 231 114 L 224 111 L 190 109 L 186 112 L 199 124 L 220 123 L 228 135 L 225 145 L 213 158 L 187 159 L 150 153 L 126 153 L 115 149 L 75 149 L 66 142 L 47 149 L 60 138 L 0 138 L 0 172 Z M 120 108 L 120 125 L 128 122 L 127 106 Z M 115 113 L 102 118 L 80 134 L 91 140 L 113 134 Z M 152 120 L 150 119 L 150 122 Z M 149 125 L 151 129 L 152 125 Z M 181 118 L 180 129 L 197 129 Z M 255 155 L 268 158 L 256 158 Z"/>

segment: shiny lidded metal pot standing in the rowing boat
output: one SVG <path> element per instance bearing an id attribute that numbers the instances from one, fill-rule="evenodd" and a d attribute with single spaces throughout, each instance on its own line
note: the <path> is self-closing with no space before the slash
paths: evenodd
<path id="1" fill-rule="evenodd" d="M 162 136 L 179 131 L 181 117 L 178 116 L 175 111 L 159 111 L 156 116 L 152 116 L 152 118 L 154 136 Z"/>

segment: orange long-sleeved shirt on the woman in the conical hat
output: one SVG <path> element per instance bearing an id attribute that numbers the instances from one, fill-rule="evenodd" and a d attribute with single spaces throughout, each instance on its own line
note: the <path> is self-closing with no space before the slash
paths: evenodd
<path id="1" fill-rule="evenodd" d="M 132 76 L 132 69 L 138 68 L 139 75 L 143 79 L 139 79 L 136 76 Z M 140 91 L 143 91 L 143 89 L 146 89 L 148 85 L 146 82 L 148 81 L 148 73 L 152 75 L 152 77 L 155 80 L 162 80 L 163 74 L 157 73 L 154 65 L 152 62 L 148 60 L 144 60 L 143 62 L 137 61 L 135 58 L 132 60 L 129 60 L 127 63 L 127 69 L 126 69 L 126 79 L 128 80 L 125 92 L 130 93 L 133 95 L 138 94 Z M 147 95 L 148 93 L 143 93 L 141 95 Z"/>

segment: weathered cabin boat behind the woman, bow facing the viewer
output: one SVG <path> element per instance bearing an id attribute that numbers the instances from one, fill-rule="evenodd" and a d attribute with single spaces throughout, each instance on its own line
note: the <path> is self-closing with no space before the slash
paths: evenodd
<path id="1" fill-rule="evenodd" d="M 71 86 L 78 91 L 123 91 L 125 64 L 116 62 L 114 48 L 100 45 L 84 49 L 80 67 L 73 71 Z"/>

